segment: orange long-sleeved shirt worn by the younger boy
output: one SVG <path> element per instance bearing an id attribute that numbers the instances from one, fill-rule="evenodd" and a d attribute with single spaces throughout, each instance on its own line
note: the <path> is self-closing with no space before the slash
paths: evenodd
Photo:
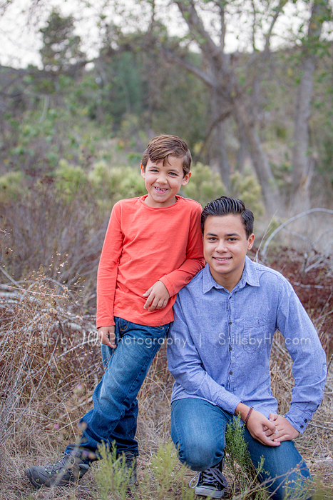
<path id="1" fill-rule="evenodd" d="M 98 328 L 114 325 L 113 316 L 149 326 L 173 321 L 176 294 L 204 266 L 200 204 L 176 196 L 175 204 L 153 208 L 146 196 L 113 206 L 98 266 Z M 143 294 L 158 280 L 170 299 L 150 312 Z"/>

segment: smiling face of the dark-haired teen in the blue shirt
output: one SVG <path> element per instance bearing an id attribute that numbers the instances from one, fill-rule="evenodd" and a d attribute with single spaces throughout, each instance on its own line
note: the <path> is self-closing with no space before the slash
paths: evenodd
<path id="1" fill-rule="evenodd" d="M 247 239 L 242 217 L 237 214 L 208 216 L 203 232 L 203 254 L 210 274 L 228 291 L 242 277 L 247 250 L 252 249 L 255 235 Z"/>

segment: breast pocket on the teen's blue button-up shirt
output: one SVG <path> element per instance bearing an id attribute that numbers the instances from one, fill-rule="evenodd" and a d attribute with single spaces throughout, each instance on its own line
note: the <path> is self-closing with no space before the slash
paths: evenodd
<path id="1" fill-rule="evenodd" d="M 268 316 L 243 319 L 242 345 L 245 352 L 258 354 L 270 348 L 272 340 L 273 334 L 270 332 Z"/>

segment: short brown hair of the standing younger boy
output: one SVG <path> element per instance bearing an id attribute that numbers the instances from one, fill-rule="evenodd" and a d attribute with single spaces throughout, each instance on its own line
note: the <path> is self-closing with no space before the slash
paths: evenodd
<path id="1" fill-rule="evenodd" d="M 156 164 L 163 161 L 163 165 L 165 165 L 168 161 L 168 156 L 182 158 L 184 175 L 188 174 L 192 162 L 190 149 L 188 149 L 188 145 L 182 139 L 168 134 L 161 134 L 151 139 L 150 143 L 145 148 L 143 159 L 141 160 L 143 171 L 145 171 L 148 160 Z"/>

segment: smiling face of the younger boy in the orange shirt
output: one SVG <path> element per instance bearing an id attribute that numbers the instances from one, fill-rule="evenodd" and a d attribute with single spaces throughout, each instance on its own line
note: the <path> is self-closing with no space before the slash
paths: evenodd
<path id="1" fill-rule="evenodd" d="M 145 203 L 158 208 L 175 203 L 175 195 L 181 186 L 188 184 L 191 173 L 184 176 L 183 159 L 169 156 L 165 165 L 163 161 L 155 164 L 149 159 L 145 170 L 141 165 L 141 175 L 145 179 L 145 189 L 148 191 Z"/>

